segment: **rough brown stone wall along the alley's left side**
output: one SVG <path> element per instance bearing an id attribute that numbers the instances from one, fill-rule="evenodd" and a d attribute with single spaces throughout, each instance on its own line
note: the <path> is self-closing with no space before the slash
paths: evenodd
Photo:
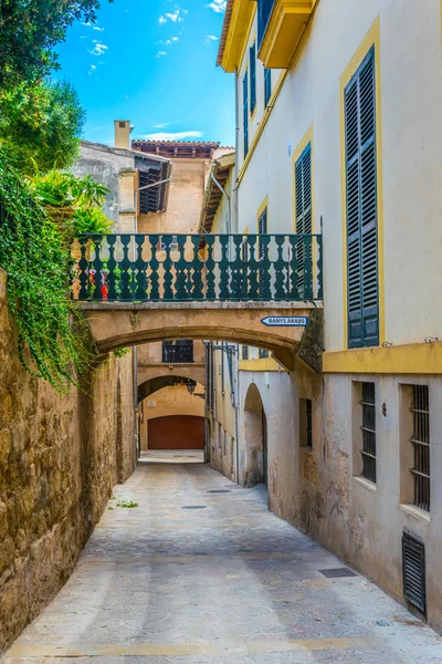
<path id="1" fill-rule="evenodd" d="M 60 396 L 20 364 L 0 271 L 0 652 L 75 567 L 134 469 L 133 357 L 110 355 Z"/>

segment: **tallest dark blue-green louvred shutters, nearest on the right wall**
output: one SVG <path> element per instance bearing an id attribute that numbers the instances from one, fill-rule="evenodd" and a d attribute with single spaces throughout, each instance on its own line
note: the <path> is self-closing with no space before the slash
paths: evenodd
<path id="1" fill-rule="evenodd" d="M 348 346 L 379 344 L 375 48 L 345 89 Z"/>

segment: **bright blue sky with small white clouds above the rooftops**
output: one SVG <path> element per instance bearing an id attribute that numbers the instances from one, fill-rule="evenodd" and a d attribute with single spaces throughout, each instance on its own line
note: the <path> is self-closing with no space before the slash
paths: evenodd
<path id="1" fill-rule="evenodd" d="M 102 0 L 57 49 L 57 77 L 86 110 L 84 138 L 113 144 L 114 120 L 133 137 L 234 143 L 233 77 L 215 66 L 225 0 Z"/>

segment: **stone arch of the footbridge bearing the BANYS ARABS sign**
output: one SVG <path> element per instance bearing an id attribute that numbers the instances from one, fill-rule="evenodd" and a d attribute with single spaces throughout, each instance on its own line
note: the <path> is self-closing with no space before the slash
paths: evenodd
<path id="1" fill-rule="evenodd" d="M 208 302 L 198 303 L 82 303 L 92 335 L 103 353 L 126 345 L 170 339 L 228 341 L 270 351 L 287 371 L 293 371 L 295 355 L 303 343 L 312 347 L 303 360 L 316 367 L 316 347 L 320 323 L 315 303 L 296 307 L 287 302 Z M 273 321 L 269 324 L 269 319 Z M 286 323 L 288 319 L 298 323 Z M 319 318 L 320 320 L 320 318 Z M 275 322 L 276 321 L 276 322 Z M 303 322 L 304 321 L 304 322 Z M 307 325 L 307 328 L 306 328 Z M 312 325 L 313 334 L 308 334 Z M 307 333 L 305 334 L 307 330 Z M 304 341 L 305 336 L 305 341 Z"/>

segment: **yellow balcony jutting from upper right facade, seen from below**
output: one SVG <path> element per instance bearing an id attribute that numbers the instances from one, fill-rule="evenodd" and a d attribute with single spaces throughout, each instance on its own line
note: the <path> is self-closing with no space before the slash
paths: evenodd
<path id="1" fill-rule="evenodd" d="M 267 69 L 287 69 L 316 0 L 257 0 L 259 58 Z"/>

